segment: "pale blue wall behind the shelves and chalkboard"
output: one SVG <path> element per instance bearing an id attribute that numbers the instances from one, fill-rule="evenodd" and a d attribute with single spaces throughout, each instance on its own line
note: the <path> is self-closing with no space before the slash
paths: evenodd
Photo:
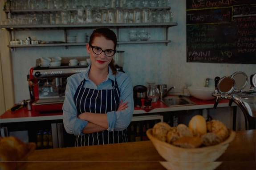
<path id="1" fill-rule="evenodd" d="M 187 63 L 186 62 L 186 3 L 184 0 L 171 0 L 171 11 L 174 14 L 173 21 L 178 26 L 169 28 L 171 43 L 165 44 L 121 44 L 118 50 L 125 51 L 124 70 L 132 78 L 133 85 L 146 85 L 148 81 L 165 83 L 168 87 L 175 86 L 173 92 L 183 92 L 187 86 L 203 86 L 206 78 L 211 78 L 213 86 L 215 76 L 231 75 L 235 71 L 244 71 L 248 77 L 256 72 L 253 64 L 221 64 L 221 63 Z M 151 34 L 152 40 L 163 37 L 163 29 L 145 28 Z M 82 31 L 82 30 L 78 30 Z M 128 38 L 129 29 L 121 30 L 122 39 Z M 88 34 L 92 30 L 86 30 Z M 70 31 L 68 34 L 75 34 Z M 31 36 L 32 39 L 47 41 L 63 41 L 63 32 L 18 32 L 16 38 L 24 39 Z M 26 75 L 29 68 L 35 66 L 35 60 L 42 56 L 88 56 L 85 47 L 39 47 L 16 48 L 12 52 L 13 78 L 15 85 L 16 103 L 28 99 L 28 83 Z M 249 85 L 248 85 L 249 86 Z M 248 88 L 247 88 L 248 90 Z"/>

